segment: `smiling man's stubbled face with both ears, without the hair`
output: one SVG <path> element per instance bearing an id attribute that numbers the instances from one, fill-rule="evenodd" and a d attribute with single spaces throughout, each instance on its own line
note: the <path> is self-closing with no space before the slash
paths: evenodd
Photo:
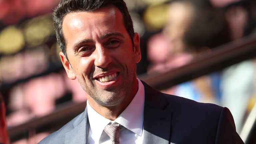
<path id="1" fill-rule="evenodd" d="M 132 45 L 118 8 L 73 12 L 64 17 L 67 57 L 60 53 L 70 79 L 78 79 L 88 100 L 115 106 L 136 93 L 136 63 L 140 61 L 139 36 Z M 133 96 L 132 96 L 133 95 Z"/>

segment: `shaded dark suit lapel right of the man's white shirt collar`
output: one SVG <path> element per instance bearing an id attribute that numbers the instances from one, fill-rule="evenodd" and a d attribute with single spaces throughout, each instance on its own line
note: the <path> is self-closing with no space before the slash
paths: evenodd
<path id="1" fill-rule="evenodd" d="M 144 144 L 169 144 L 171 132 L 171 111 L 165 109 L 165 96 L 144 83 Z"/>

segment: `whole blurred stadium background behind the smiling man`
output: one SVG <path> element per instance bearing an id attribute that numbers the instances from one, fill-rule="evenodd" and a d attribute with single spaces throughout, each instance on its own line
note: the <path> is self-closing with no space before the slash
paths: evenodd
<path id="1" fill-rule="evenodd" d="M 58 3 L 0 0 L 0 96 L 12 144 L 39 142 L 86 106 L 59 58 Z M 162 92 L 228 107 L 244 142 L 256 144 L 256 1 L 126 3 L 141 38 L 138 77 Z"/>

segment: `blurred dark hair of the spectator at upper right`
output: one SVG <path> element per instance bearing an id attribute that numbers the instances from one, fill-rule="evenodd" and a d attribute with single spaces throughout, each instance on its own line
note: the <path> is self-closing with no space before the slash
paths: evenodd
<path id="1" fill-rule="evenodd" d="M 225 15 L 210 4 L 194 6 L 194 15 L 184 34 L 183 41 L 194 49 L 215 48 L 229 41 Z"/>

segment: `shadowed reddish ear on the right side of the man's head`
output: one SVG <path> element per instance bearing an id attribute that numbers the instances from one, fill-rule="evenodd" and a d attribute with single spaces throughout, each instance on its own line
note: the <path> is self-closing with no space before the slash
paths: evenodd
<path id="1" fill-rule="evenodd" d="M 140 37 L 137 32 L 135 32 L 133 36 L 133 52 L 134 52 L 135 62 L 138 63 L 141 59 L 141 52 L 140 52 Z"/>

